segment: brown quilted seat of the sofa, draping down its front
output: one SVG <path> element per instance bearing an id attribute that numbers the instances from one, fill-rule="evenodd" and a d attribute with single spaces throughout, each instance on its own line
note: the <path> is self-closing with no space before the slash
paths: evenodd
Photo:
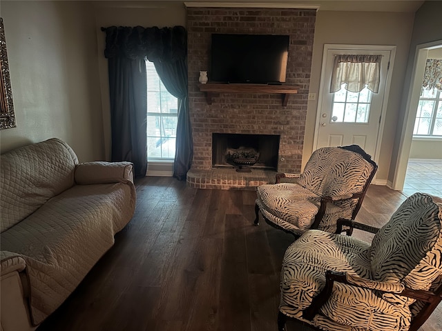
<path id="1" fill-rule="evenodd" d="M 26 261 L 33 323 L 73 292 L 131 220 L 135 189 L 125 183 L 75 185 L 1 233 L 1 249 Z"/>

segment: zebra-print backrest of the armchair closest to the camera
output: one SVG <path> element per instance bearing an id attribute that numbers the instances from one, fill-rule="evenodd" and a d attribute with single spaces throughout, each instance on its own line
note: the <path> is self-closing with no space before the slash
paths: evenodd
<path id="1" fill-rule="evenodd" d="M 415 193 L 372 241 L 372 277 L 429 290 L 442 275 L 442 199 Z"/>

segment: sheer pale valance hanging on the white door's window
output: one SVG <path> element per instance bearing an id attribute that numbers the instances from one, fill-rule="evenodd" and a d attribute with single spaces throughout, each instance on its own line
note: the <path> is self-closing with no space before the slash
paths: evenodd
<path id="1" fill-rule="evenodd" d="M 330 93 L 340 90 L 343 83 L 350 92 L 361 92 L 365 86 L 374 93 L 379 91 L 382 55 L 336 55 Z"/>

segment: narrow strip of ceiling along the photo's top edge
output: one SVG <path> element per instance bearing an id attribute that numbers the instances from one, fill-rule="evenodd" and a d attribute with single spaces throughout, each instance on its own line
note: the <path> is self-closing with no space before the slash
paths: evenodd
<path id="1" fill-rule="evenodd" d="M 317 8 L 318 10 L 365 11 L 365 12 L 416 12 L 425 1 L 415 0 L 102 0 L 98 6 L 131 8 L 163 7 L 166 3 L 184 3 L 191 7 L 249 7 L 249 8 Z"/>

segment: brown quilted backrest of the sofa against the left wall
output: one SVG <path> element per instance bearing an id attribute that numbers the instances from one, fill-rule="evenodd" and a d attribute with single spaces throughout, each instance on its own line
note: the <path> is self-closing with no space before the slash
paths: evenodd
<path id="1" fill-rule="evenodd" d="M 0 232 L 74 185 L 78 159 L 66 143 L 49 139 L 0 157 Z"/>

